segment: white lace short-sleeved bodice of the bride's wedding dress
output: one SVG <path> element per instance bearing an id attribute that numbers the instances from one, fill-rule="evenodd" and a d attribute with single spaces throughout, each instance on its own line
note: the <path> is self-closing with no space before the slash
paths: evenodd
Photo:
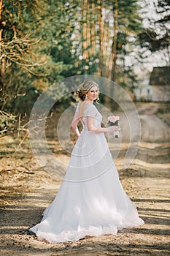
<path id="1" fill-rule="evenodd" d="M 79 106 L 80 106 L 80 103 L 77 105 L 77 109 L 76 109 L 77 113 L 79 113 Z M 101 127 L 101 120 L 102 120 L 101 113 L 98 112 L 97 108 L 92 103 L 87 103 L 84 110 L 84 116 L 80 117 L 80 120 L 82 121 L 82 126 L 84 129 L 88 129 L 88 120 L 87 120 L 88 116 L 93 116 L 95 118 L 95 121 L 94 121 L 95 126 Z"/>

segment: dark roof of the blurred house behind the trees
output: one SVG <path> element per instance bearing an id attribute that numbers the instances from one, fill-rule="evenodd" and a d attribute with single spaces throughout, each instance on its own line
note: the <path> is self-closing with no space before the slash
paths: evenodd
<path id="1" fill-rule="evenodd" d="M 154 67 L 150 74 L 151 86 L 170 86 L 170 67 Z"/>

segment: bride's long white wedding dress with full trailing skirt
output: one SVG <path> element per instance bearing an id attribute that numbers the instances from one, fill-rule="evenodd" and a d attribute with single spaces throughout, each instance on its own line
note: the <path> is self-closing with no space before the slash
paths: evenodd
<path id="1" fill-rule="evenodd" d="M 45 209 L 42 221 L 30 229 L 53 243 L 115 235 L 124 227 L 144 224 L 120 184 L 104 133 L 88 132 L 88 116 L 95 116 L 96 127 L 101 127 L 101 113 L 88 103 L 58 194 Z"/>

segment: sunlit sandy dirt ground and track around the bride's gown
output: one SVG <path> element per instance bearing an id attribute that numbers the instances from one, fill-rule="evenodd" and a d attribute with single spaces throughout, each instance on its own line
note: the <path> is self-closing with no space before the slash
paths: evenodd
<path id="1" fill-rule="evenodd" d="M 117 236 L 86 237 L 63 244 L 49 244 L 30 235 L 28 227 L 40 221 L 42 211 L 58 192 L 61 178 L 39 167 L 27 140 L 17 148 L 20 140 L 6 137 L 1 139 L 0 255 L 170 254 L 170 129 L 155 114 L 158 104 L 137 108 L 142 122 L 138 154 L 128 169 L 121 170 L 123 154 L 116 165 L 125 192 L 136 204 L 145 225 L 121 230 Z M 63 162 L 69 161 L 57 142 L 53 142 L 53 153 Z"/>

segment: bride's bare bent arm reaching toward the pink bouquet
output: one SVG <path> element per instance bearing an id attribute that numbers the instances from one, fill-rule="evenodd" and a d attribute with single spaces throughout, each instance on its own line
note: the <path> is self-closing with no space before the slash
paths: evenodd
<path id="1" fill-rule="evenodd" d="M 94 124 L 94 117 L 93 116 L 88 116 L 87 121 L 88 121 L 88 130 L 90 132 L 117 132 L 117 127 L 96 127 Z"/>

